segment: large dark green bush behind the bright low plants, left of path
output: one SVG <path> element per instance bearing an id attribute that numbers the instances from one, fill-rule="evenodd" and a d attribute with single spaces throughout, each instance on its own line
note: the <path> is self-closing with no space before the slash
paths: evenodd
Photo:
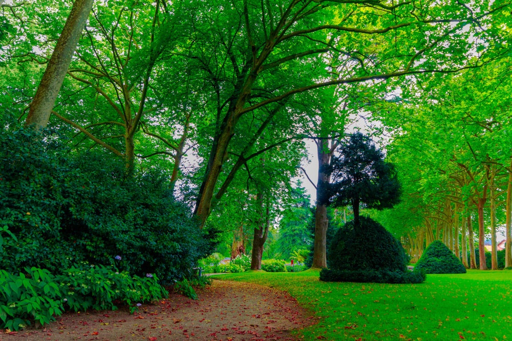
<path id="1" fill-rule="evenodd" d="M 126 175 L 110 155 L 69 153 L 58 141 L 22 128 L 0 135 L 0 268 L 57 274 L 88 261 L 167 284 L 193 277 L 210 236 L 167 179 L 157 170 Z"/>

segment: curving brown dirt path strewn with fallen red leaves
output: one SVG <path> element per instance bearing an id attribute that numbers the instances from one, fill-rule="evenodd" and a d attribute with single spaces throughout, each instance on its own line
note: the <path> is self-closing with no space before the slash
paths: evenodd
<path id="1" fill-rule="evenodd" d="M 157 304 L 126 309 L 66 313 L 45 329 L 0 334 L 2 341 L 272 341 L 316 322 L 287 292 L 214 280 L 191 300 L 172 293 Z"/>

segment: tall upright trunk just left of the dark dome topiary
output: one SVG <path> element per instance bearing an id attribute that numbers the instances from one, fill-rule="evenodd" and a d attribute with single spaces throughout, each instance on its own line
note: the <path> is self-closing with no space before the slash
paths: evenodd
<path id="1" fill-rule="evenodd" d="M 332 150 L 329 148 L 327 139 L 316 141 L 318 154 L 318 180 L 316 183 L 316 211 L 315 211 L 315 240 L 313 245 L 313 263 L 312 268 L 327 267 L 327 219 L 326 190 L 327 184 L 331 180 L 331 175 L 327 171 Z"/>

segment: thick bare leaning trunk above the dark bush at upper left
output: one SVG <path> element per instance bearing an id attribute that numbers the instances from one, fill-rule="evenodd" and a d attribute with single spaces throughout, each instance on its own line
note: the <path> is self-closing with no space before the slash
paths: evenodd
<path id="1" fill-rule="evenodd" d="M 29 115 L 25 121 L 26 126 L 42 129 L 48 125 L 55 100 L 68 72 L 71 57 L 75 53 L 93 3 L 94 0 L 76 0 L 73 4 L 52 57 L 48 61 L 45 74 L 30 104 Z"/>

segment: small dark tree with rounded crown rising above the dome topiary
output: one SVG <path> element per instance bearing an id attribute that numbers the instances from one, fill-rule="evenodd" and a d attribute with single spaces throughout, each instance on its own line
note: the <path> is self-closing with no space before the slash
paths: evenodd
<path id="1" fill-rule="evenodd" d="M 354 226 L 359 223 L 359 204 L 382 210 L 391 208 L 400 199 L 400 184 L 394 166 L 384 161 L 384 154 L 360 132 L 351 135 L 337 148 L 333 157 L 330 185 L 334 204 L 351 204 Z"/>

